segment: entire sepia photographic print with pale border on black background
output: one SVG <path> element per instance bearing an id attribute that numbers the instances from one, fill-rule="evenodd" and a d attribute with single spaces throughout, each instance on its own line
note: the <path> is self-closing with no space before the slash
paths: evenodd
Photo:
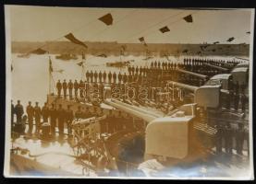
<path id="1" fill-rule="evenodd" d="M 5 6 L 6 178 L 254 179 L 252 8 Z"/>

